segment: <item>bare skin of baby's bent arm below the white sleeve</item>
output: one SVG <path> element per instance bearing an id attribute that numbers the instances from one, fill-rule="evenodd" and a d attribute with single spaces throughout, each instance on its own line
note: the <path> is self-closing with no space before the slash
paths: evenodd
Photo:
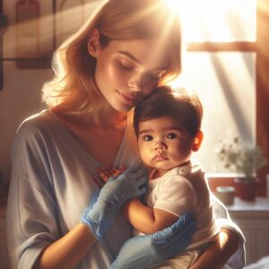
<path id="1" fill-rule="evenodd" d="M 150 208 L 137 198 L 128 201 L 124 211 L 134 228 L 145 234 L 163 230 L 178 220 L 178 216 L 158 208 Z"/>

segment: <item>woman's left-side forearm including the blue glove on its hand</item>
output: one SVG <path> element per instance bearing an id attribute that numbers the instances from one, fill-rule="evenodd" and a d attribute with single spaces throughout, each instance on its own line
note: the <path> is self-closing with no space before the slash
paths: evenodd
<path id="1" fill-rule="evenodd" d="M 53 241 L 53 243 L 45 245 L 40 251 L 39 257 L 33 260 L 33 268 L 74 268 L 78 265 L 91 249 L 95 239 L 104 239 L 122 204 L 134 196 L 143 195 L 145 191 L 143 185 L 146 180 L 145 170 L 138 166 L 130 167 L 118 178 L 110 178 L 101 188 L 95 204 L 93 206 L 90 204 L 82 214 L 82 223 L 77 224 L 73 230 L 70 230 L 60 239 L 52 239 L 52 236 L 47 232 L 48 238 L 51 238 L 47 242 L 44 239 L 41 241 L 39 234 L 49 230 L 49 223 L 47 223 L 47 230 L 44 229 L 44 226 L 39 225 L 39 233 L 37 233 L 37 227 L 34 227 L 34 224 L 30 225 L 30 233 L 36 242 L 33 247 L 29 247 L 28 244 L 29 248 L 40 248 L 40 242 L 44 245 Z M 37 216 L 39 214 L 36 214 L 35 223 L 39 222 Z M 48 215 L 46 216 L 48 219 Z"/>

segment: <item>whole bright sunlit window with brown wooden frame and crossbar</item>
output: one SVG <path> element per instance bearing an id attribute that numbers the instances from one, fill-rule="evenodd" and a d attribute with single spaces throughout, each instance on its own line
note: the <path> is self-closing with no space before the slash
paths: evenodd
<path id="1" fill-rule="evenodd" d="M 227 172 L 216 150 L 238 136 L 259 144 L 269 160 L 269 1 L 179 3 L 187 54 L 175 84 L 197 91 L 204 104 L 204 143 L 195 157 L 209 173 Z M 268 166 L 259 175 L 264 194 L 266 173 Z"/>

